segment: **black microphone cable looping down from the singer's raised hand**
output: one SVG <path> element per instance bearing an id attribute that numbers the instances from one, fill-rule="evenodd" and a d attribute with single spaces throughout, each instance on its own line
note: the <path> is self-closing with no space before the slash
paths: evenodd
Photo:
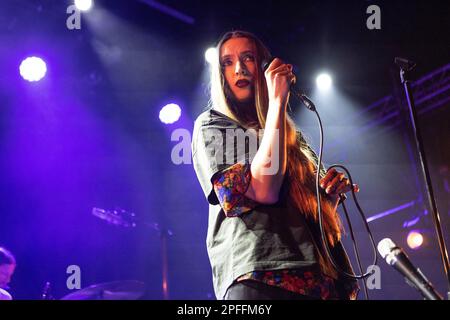
<path id="1" fill-rule="evenodd" d="M 310 101 L 310 100 L 308 99 L 308 101 Z M 321 202 L 320 202 L 321 199 L 320 199 L 320 186 L 319 186 L 319 182 L 320 182 L 320 168 L 322 166 L 323 126 L 322 126 L 322 120 L 320 119 L 320 115 L 317 112 L 317 110 L 315 109 L 315 107 L 314 108 L 308 107 L 308 109 L 310 109 L 311 111 L 313 111 L 316 114 L 317 119 L 319 121 L 319 129 L 320 129 L 320 147 L 319 147 L 319 156 L 318 156 L 318 161 L 317 161 L 318 163 L 317 163 L 317 170 L 316 170 L 316 195 L 317 195 L 317 210 L 318 210 L 318 215 L 319 215 L 319 218 L 318 218 L 318 220 L 319 220 L 319 229 L 320 229 L 321 238 L 322 238 L 322 245 L 325 248 L 325 252 L 327 254 L 328 260 L 331 262 L 333 267 L 340 274 L 342 274 L 342 275 L 344 275 L 344 276 L 346 276 L 348 278 L 351 278 L 351 279 L 357 279 L 357 280 L 363 279 L 364 280 L 364 278 L 368 277 L 373 272 L 363 273 L 363 271 L 362 271 L 361 261 L 360 261 L 359 252 L 358 252 L 358 246 L 357 246 L 357 243 L 355 241 L 355 237 L 354 237 L 354 234 L 353 234 L 353 229 L 352 229 L 352 226 L 351 226 L 351 221 L 349 219 L 349 216 L 348 216 L 348 213 L 347 213 L 345 207 L 344 207 L 344 211 L 346 213 L 347 224 L 349 225 L 349 229 L 350 229 L 350 232 L 351 232 L 351 236 L 352 236 L 352 240 L 353 240 L 353 244 L 354 244 L 354 249 L 355 249 L 356 259 L 358 261 L 358 266 L 360 268 L 360 274 L 351 274 L 351 273 L 348 273 L 347 271 L 344 271 L 341 267 L 339 267 L 337 265 L 337 263 L 334 261 L 334 258 L 333 258 L 332 254 L 331 254 L 331 250 L 330 250 L 329 245 L 328 245 L 328 240 L 326 238 L 325 231 L 323 229 L 323 214 L 322 214 L 322 206 L 321 206 Z M 358 211 L 359 211 L 359 213 L 361 215 L 362 220 L 364 221 L 364 225 L 365 225 L 366 230 L 367 230 L 367 232 L 369 234 L 369 238 L 371 240 L 373 253 L 374 253 L 373 265 L 376 265 L 378 256 L 377 256 L 377 249 L 376 249 L 375 241 L 373 239 L 372 232 L 370 231 L 369 224 L 367 223 L 367 220 L 366 220 L 366 218 L 364 216 L 364 213 L 363 213 L 363 211 L 361 209 L 361 206 L 358 203 L 358 200 L 357 200 L 356 195 L 355 195 L 355 191 L 353 190 L 353 180 L 352 180 L 352 177 L 350 175 L 350 172 L 344 166 L 337 165 L 337 164 L 330 166 L 329 169 L 331 169 L 333 167 L 340 167 L 340 168 L 342 168 L 346 172 L 346 174 L 348 175 L 348 179 L 350 181 L 350 185 L 352 186 L 351 192 L 352 192 L 352 195 L 353 195 L 353 201 L 355 202 L 355 205 L 356 205 L 356 207 L 357 207 L 357 209 L 358 209 Z M 366 292 L 366 298 L 368 298 L 368 292 L 367 292 L 367 288 L 366 288 L 366 285 L 365 285 L 365 281 L 363 281 L 363 282 L 364 282 L 364 288 L 365 288 L 365 292 Z"/>

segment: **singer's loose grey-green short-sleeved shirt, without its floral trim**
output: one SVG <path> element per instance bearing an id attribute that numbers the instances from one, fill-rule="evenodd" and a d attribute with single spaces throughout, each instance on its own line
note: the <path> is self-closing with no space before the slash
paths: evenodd
<path id="1" fill-rule="evenodd" d="M 233 130 L 243 128 L 209 109 L 195 121 L 192 139 L 194 169 L 209 202 L 206 245 L 217 299 L 224 298 L 235 279 L 251 271 L 318 268 L 316 242 L 304 215 L 286 201 L 286 183 L 278 203 L 261 204 L 239 217 L 226 217 L 212 180 L 235 163 L 249 164 L 254 156 L 248 144 L 230 141 L 237 140 Z"/>

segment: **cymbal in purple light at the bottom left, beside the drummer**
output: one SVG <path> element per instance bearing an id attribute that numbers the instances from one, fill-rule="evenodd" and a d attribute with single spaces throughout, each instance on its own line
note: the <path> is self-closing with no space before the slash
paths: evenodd
<path id="1" fill-rule="evenodd" d="M 145 292 L 140 281 L 114 281 L 94 284 L 64 296 L 61 300 L 137 300 Z"/>

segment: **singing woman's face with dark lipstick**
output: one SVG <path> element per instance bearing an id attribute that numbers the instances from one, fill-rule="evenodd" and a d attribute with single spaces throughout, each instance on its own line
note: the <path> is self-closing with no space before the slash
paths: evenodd
<path id="1" fill-rule="evenodd" d="M 220 49 L 220 65 L 225 80 L 240 102 L 254 97 L 256 77 L 256 48 L 247 38 L 227 40 Z"/>

